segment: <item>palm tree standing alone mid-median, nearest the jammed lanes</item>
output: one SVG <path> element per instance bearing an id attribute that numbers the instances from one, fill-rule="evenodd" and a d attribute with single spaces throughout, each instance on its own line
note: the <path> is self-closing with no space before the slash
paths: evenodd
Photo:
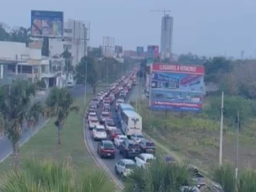
<path id="1" fill-rule="evenodd" d="M 46 99 L 46 115 L 48 117 L 57 117 L 55 121 L 58 127 L 58 144 L 61 144 L 61 131 L 64 127 L 64 121 L 69 112 L 78 112 L 78 106 L 73 106 L 74 98 L 67 88 L 53 88 Z"/>

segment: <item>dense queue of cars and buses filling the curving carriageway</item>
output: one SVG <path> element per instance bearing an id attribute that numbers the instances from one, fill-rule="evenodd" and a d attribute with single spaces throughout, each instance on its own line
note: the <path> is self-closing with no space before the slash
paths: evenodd
<path id="1" fill-rule="evenodd" d="M 137 72 L 124 75 L 115 83 L 97 93 L 87 109 L 85 121 L 92 139 L 97 141 L 96 152 L 100 158 L 115 159 L 116 153 L 122 155 L 115 164 L 115 173 L 126 177 L 136 167 L 145 168 L 155 159 L 156 147 L 153 141 L 142 134 L 142 117 L 125 100 L 133 86 L 137 85 Z M 110 110 L 114 109 L 114 110 Z M 115 123 L 113 113 L 118 122 Z M 170 156 L 164 156 L 166 162 L 175 163 Z M 198 172 L 196 186 L 206 185 L 205 178 Z"/>

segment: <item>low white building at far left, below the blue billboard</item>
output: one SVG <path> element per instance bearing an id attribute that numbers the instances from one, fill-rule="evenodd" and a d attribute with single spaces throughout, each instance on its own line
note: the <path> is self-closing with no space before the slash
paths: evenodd
<path id="1" fill-rule="evenodd" d="M 26 47 L 26 43 L 0 41 L 0 83 L 11 83 L 22 77 L 32 83 L 43 80 L 46 87 L 62 87 L 63 58 L 44 57 L 40 48 Z"/>

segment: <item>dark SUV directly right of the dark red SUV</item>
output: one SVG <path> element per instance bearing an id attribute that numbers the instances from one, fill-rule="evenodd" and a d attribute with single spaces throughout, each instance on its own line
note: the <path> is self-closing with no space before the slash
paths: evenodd
<path id="1" fill-rule="evenodd" d="M 132 140 L 123 140 L 119 148 L 119 153 L 125 158 L 134 158 L 136 155 L 140 154 L 140 147 Z"/>

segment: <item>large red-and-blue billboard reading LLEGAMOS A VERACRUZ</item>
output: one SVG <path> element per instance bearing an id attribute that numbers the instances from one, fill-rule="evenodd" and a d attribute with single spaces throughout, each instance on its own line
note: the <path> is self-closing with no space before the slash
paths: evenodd
<path id="1" fill-rule="evenodd" d="M 157 110 L 201 111 L 204 67 L 154 63 L 149 107 Z"/>

